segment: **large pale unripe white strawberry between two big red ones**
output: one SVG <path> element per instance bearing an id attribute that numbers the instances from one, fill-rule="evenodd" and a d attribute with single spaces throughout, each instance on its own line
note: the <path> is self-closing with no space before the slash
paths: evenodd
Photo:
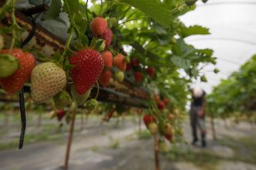
<path id="1" fill-rule="evenodd" d="M 53 62 L 36 65 L 31 74 L 34 102 L 45 102 L 66 86 L 66 72 Z"/>

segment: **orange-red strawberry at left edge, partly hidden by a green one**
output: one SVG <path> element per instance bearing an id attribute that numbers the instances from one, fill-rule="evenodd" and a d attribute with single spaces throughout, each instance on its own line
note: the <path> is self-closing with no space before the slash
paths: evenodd
<path id="1" fill-rule="evenodd" d="M 25 82 L 29 80 L 29 75 L 32 69 L 35 67 L 35 58 L 33 55 L 23 52 L 21 49 L 14 49 L 10 52 L 8 49 L 4 49 L 0 54 L 11 54 L 19 60 L 19 69 L 7 78 L 0 78 L 0 86 L 10 93 L 14 94 L 25 85 Z"/>

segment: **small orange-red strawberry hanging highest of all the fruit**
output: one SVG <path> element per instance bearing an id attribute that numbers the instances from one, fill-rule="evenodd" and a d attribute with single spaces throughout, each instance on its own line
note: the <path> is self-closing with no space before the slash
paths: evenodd
<path id="1" fill-rule="evenodd" d="M 89 23 L 89 28 L 95 35 L 103 35 L 107 28 L 107 22 L 102 17 L 93 18 L 93 21 Z"/>

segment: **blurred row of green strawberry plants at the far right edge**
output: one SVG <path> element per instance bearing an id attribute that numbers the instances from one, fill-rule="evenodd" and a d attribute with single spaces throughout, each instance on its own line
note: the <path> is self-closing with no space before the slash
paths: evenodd
<path id="1" fill-rule="evenodd" d="M 241 66 L 229 78 L 223 80 L 220 85 L 207 97 L 209 103 L 208 112 L 214 118 L 254 118 L 256 89 L 256 56 Z M 225 105 L 224 105 L 225 104 Z"/>

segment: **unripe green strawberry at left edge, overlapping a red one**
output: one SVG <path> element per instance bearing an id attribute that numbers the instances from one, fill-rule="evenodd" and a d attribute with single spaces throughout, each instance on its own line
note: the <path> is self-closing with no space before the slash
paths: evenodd
<path id="1" fill-rule="evenodd" d="M 10 54 L 0 55 L 0 78 L 7 78 L 19 68 L 19 60 Z"/>

